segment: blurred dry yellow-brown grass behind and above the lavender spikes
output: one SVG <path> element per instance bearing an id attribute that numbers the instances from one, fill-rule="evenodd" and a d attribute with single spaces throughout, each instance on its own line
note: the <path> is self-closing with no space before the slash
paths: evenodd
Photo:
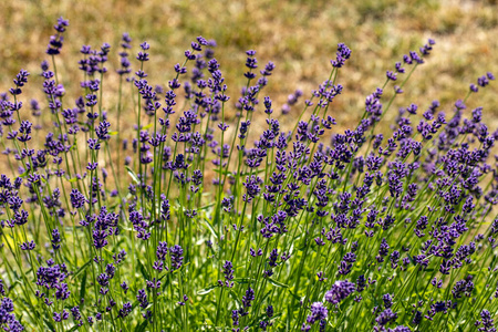
<path id="1" fill-rule="evenodd" d="M 328 79 L 336 44 L 344 42 L 352 58 L 338 80 L 344 85 L 343 95 L 331 107 L 342 127 L 357 122 L 365 96 L 382 86 L 385 71 L 394 70 L 403 54 L 418 50 L 428 38 L 436 41 L 434 51 L 394 106 L 413 102 L 425 110 L 437 98 L 442 110 L 450 111 L 478 76 L 487 71 L 498 76 L 496 0 L 20 0 L 0 1 L 0 91 L 8 91 L 14 75 L 25 69 L 32 73 L 21 97 L 25 102 L 31 97 L 43 101 L 40 62 L 49 60 L 44 52 L 60 15 L 70 20 L 58 70 L 71 100 L 81 94 L 80 48 L 98 48 L 103 42 L 112 45 L 104 87 L 107 108 L 114 107 L 123 32 L 133 39 L 132 54 L 141 42 L 151 43 L 145 71 L 151 83 L 162 85 L 174 76 L 173 65 L 184 61 L 190 41 L 197 35 L 216 40 L 215 56 L 232 104 L 246 83 L 245 51 L 256 50 L 260 68 L 268 61 L 276 63 L 263 93 L 274 101 L 276 110 L 280 111 L 297 89 L 304 92 L 291 115 L 299 114 L 311 90 Z M 132 66 L 136 70 L 137 63 Z M 490 129 L 498 125 L 497 92 L 495 82 L 468 103 L 469 107 L 484 106 Z M 288 123 L 295 120 L 289 118 Z"/>

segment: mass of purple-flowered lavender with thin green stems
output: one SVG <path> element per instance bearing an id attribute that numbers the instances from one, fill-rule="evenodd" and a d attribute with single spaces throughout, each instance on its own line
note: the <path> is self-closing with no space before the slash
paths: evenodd
<path id="1" fill-rule="evenodd" d="M 115 71 L 110 44 L 84 45 L 73 100 L 55 66 L 68 25 L 45 100 L 23 107 L 24 70 L 1 95 L 4 331 L 496 331 L 498 132 L 469 107 L 491 73 L 446 112 L 392 110 L 428 40 L 340 131 L 341 43 L 286 131 L 263 93 L 274 64 L 248 51 L 234 102 L 201 37 L 166 87 L 147 81 L 148 43 L 132 60 L 123 34 Z"/>

